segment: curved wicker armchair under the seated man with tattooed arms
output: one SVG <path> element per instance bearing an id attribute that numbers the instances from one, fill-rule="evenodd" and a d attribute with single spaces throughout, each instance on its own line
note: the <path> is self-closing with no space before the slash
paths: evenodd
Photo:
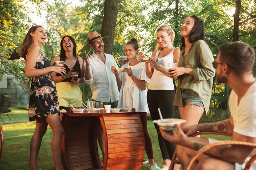
<path id="1" fill-rule="evenodd" d="M 191 137 L 197 136 L 197 135 L 225 135 L 225 136 L 232 136 L 232 134 L 230 133 L 224 133 L 224 132 L 196 132 L 195 134 L 191 135 Z M 214 144 L 209 144 L 204 146 L 203 148 L 201 148 L 200 150 L 198 150 L 198 152 L 196 152 L 195 156 L 191 159 L 191 162 L 189 163 L 189 166 L 187 168 L 187 170 L 190 170 L 191 166 L 193 165 L 194 161 L 200 156 L 202 155 L 204 152 L 206 152 L 207 150 L 210 150 L 213 147 L 216 146 L 224 146 L 224 145 L 239 145 L 239 146 L 249 146 L 249 147 L 254 147 L 256 148 L 256 144 L 254 143 L 250 143 L 250 142 L 242 142 L 242 141 L 220 141 Z M 254 162 L 254 160 L 256 160 L 256 155 L 254 155 L 246 164 L 244 170 L 249 170 L 250 167 L 252 166 L 252 163 Z M 171 166 L 169 168 L 169 170 L 173 170 L 174 168 L 174 164 L 180 164 L 179 160 L 177 159 L 177 153 L 176 151 L 173 154 L 172 160 L 171 160 Z"/>

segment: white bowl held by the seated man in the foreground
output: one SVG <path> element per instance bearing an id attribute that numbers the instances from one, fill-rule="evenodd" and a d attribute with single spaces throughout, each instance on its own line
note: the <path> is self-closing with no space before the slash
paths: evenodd
<path id="1" fill-rule="evenodd" d="M 182 124 L 182 123 L 186 122 L 186 120 L 168 118 L 168 119 L 163 119 L 163 121 L 161 119 L 153 120 L 153 122 L 164 130 L 173 130 L 173 129 L 175 129 L 176 124 Z"/>

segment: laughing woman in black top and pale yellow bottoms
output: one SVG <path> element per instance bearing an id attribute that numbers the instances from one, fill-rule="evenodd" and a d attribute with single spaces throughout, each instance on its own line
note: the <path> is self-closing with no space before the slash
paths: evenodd
<path id="1" fill-rule="evenodd" d="M 58 65 L 58 61 L 63 61 L 66 68 L 65 75 L 52 72 L 59 106 L 81 106 L 82 91 L 79 83 L 83 83 L 83 59 L 77 56 L 76 42 L 69 35 L 61 39 L 61 53 L 54 57 L 53 64 Z"/>

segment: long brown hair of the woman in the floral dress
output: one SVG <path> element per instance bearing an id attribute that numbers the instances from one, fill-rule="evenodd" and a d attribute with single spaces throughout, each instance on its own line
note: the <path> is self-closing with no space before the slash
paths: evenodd
<path id="1" fill-rule="evenodd" d="M 23 42 L 22 42 L 22 46 L 20 48 L 20 57 L 23 57 L 26 60 L 26 55 L 27 55 L 27 48 L 29 48 L 29 46 L 31 46 L 31 44 L 33 43 L 33 38 L 30 35 L 30 33 L 34 33 L 36 31 L 36 29 L 38 29 L 39 27 L 43 28 L 43 26 L 40 25 L 35 25 L 32 26 L 29 31 L 27 32 Z"/>

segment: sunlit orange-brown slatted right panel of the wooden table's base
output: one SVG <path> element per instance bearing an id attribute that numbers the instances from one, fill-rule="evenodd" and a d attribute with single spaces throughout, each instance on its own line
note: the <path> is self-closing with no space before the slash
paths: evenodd
<path id="1" fill-rule="evenodd" d="M 114 115 L 103 120 L 107 142 L 103 170 L 141 170 L 145 146 L 139 114 Z"/>

